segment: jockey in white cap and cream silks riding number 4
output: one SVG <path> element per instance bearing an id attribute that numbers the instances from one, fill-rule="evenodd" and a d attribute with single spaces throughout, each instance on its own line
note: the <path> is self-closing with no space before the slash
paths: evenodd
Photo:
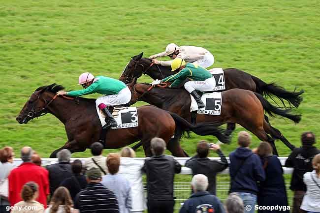
<path id="1" fill-rule="evenodd" d="M 165 51 L 152 55 L 149 59 L 155 64 L 160 64 L 162 66 L 171 66 L 172 61 L 158 61 L 156 58 L 169 56 L 171 59 L 181 58 L 187 62 L 196 63 L 205 68 L 211 66 L 215 62 L 213 55 L 206 49 L 202 47 L 195 46 L 178 46 L 174 43 L 168 44 Z"/>

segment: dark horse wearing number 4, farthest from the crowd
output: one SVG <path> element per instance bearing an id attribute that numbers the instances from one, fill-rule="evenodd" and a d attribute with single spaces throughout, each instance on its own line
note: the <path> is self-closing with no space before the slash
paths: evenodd
<path id="1" fill-rule="evenodd" d="M 154 64 L 152 60 L 142 58 L 142 56 L 143 53 L 140 53 L 131 58 L 119 80 L 128 84 L 133 78 L 139 78 L 142 74 L 149 75 L 154 80 L 160 80 L 174 74 L 174 72 L 171 72 L 170 66 Z M 303 100 L 300 96 L 304 92 L 303 90 L 286 91 L 275 83 L 267 84 L 259 78 L 236 68 L 224 69 L 224 81 L 226 90 L 238 88 L 260 93 L 264 97 L 277 97 L 284 106 L 286 106 L 284 100 L 295 107 L 298 107 Z"/>

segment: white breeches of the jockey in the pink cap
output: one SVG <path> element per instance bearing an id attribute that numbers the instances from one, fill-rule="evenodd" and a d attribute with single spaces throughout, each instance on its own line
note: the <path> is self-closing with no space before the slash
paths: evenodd
<path id="1" fill-rule="evenodd" d="M 118 94 L 104 95 L 96 99 L 96 106 L 104 103 L 107 106 L 126 104 L 131 100 L 131 91 L 128 87 L 119 91 Z"/>

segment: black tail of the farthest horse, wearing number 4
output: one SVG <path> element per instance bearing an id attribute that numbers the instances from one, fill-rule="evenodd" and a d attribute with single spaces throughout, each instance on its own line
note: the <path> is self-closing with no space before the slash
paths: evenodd
<path id="1" fill-rule="evenodd" d="M 256 83 L 256 92 L 262 94 L 264 97 L 269 96 L 271 99 L 273 99 L 272 96 L 276 96 L 285 107 L 286 105 L 284 99 L 295 107 L 298 107 L 303 100 L 303 97 L 300 97 L 300 95 L 304 92 L 303 90 L 296 91 L 296 88 L 294 88 L 294 91 L 286 91 L 283 87 L 274 82 L 267 84 L 253 75 L 251 78 Z"/>

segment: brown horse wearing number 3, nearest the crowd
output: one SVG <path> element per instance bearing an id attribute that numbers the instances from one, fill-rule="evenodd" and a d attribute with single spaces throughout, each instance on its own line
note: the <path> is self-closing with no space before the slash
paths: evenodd
<path id="1" fill-rule="evenodd" d="M 101 124 L 96 113 L 95 99 L 70 98 L 57 96 L 63 90 L 60 85 L 52 84 L 35 90 L 17 117 L 19 123 L 28 123 L 36 117 L 51 113 L 64 123 L 68 141 L 63 147 L 54 151 L 68 149 L 70 152 L 83 152 L 99 140 Z M 137 108 L 139 126 L 123 129 L 109 129 L 104 143 L 105 149 L 118 149 L 141 140 L 146 156 L 151 155 L 150 140 L 163 138 L 168 142 L 175 132 L 193 131 L 199 135 L 216 135 L 224 139 L 224 132 L 214 125 L 202 123 L 192 125 L 174 113 L 169 113 L 155 106 Z M 173 155 L 186 157 L 180 144 L 170 143 L 167 148 Z"/>

